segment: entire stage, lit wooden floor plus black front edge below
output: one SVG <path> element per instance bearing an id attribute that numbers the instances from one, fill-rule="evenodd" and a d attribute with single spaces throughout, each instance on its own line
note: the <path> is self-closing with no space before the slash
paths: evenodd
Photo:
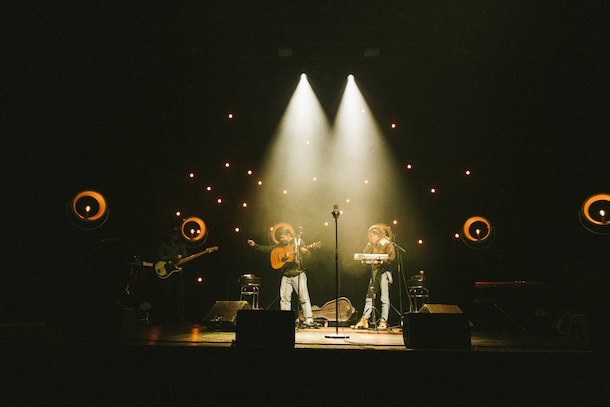
<path id="1" fill-rule="evenodd" d="M 80 340 L 53 329 L 2 326 L 7 405 L 600 405 L 608 396 L 609 352 L 557 333 L 471 328 L 468 349 L 410 349 L 400 327 L 295 329 L 290 347 L 240 346 L 236 332 L 201 324 L 138 321 Z"/>

